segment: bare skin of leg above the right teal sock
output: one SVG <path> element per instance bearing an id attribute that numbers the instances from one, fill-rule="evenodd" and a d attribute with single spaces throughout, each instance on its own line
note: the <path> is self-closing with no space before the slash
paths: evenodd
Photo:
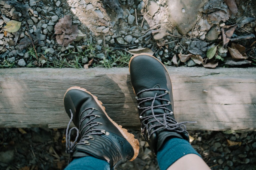
<path id="1" fill-rule="evenodd" d="M 174 162 L 167 170 L 210 170 L 200 156 L 187 154 Z"/>

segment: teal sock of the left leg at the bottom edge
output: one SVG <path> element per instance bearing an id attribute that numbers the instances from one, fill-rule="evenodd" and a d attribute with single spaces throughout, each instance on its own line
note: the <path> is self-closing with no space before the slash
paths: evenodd
<path id="1" fill-rule="evenodd" d="M 76 158 L 64 170 L 110 170 L 110 164 L 93 156 Z"/>

